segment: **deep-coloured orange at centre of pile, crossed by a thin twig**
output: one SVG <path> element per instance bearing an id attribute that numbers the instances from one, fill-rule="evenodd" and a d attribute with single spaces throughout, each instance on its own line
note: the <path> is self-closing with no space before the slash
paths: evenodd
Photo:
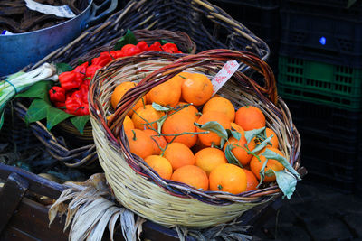
<path id="1" fill-rule="evenodd" d="M 195 133 L 196 126 L 194 125 L 194 119 L 188 113 L 175 113 L 174 115 L 167 116 L 164 124 L 162 125 L 162 134 L 165 135 L 167 142 L 186 144 L 188 147 L 192 147 L 196 144 L 197 134 L 183 134 L 183 133 Z M 176 138 L 176 134 L 178 135 Z M 174 139 L 175 138 L 175 139 Z"/>

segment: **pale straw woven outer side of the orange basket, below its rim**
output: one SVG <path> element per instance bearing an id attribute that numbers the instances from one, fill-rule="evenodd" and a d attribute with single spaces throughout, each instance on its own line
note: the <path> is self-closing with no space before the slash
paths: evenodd
<path id="1" fill-rule="evenodd" d="M 140 217 L 167 227 L 182 225 L 204 228 L 231 221 L 241 216 L 244 211 L 261 205 L 261 202 L 234 202 L 225 206 L 211 205 L 196 199 L 170 195 L 156 183 L 135 173 L 126 161 L 119 160 L 119 150 L 107 144 L 106 136 L 100 129 L 100 125 L 97 125 L 93 119 L 91 122 L 100 165 L 106 173 L 107 181 L 113 188 L 119 203 Z M 264 202 L 271 201 L 271 199 L 266 199 Z M 159 200 L 165 201 L 159 202 Z M 172 210 L 172 217 L 169 215 L 169 210 Z"/>

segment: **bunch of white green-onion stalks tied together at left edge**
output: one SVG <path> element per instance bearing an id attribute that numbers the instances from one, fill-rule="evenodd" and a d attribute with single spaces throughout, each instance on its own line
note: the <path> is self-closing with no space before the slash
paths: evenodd
<path id="1" fill-rule="evenodd" d="M 7 79 L 0 81 L 0 130 L 4 123 L 4 109 L 6 104 L 13 99 L 17 93 L 23 92 L 41 80 L 58 80 L 56 68 L 49 63 L 44 63 L 35 70 L 27 73 L 17 72 Z"/>

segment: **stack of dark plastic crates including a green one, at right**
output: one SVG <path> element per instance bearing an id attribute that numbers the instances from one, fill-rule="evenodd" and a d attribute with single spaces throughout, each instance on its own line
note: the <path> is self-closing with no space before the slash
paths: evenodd
<path id="1" fill-rule="evenodd" d="M 362 4 L 350 3 L 284 1 L 278 75 L 300 130 L 306 180 L 346 193 L 362 181 Z"/>

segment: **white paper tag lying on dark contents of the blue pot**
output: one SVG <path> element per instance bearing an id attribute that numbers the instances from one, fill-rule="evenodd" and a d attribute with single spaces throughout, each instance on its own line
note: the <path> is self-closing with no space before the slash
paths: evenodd
<path id="1" fill-rule="evenodd" d="M 37 11 L 42 14 L 53 14 L 58 17 L 73 18 L 75 14 L 71 11 L 68 5 L 42 5 L 33 0 L 25 0 L 26 6 L 33 11 Z"/>

